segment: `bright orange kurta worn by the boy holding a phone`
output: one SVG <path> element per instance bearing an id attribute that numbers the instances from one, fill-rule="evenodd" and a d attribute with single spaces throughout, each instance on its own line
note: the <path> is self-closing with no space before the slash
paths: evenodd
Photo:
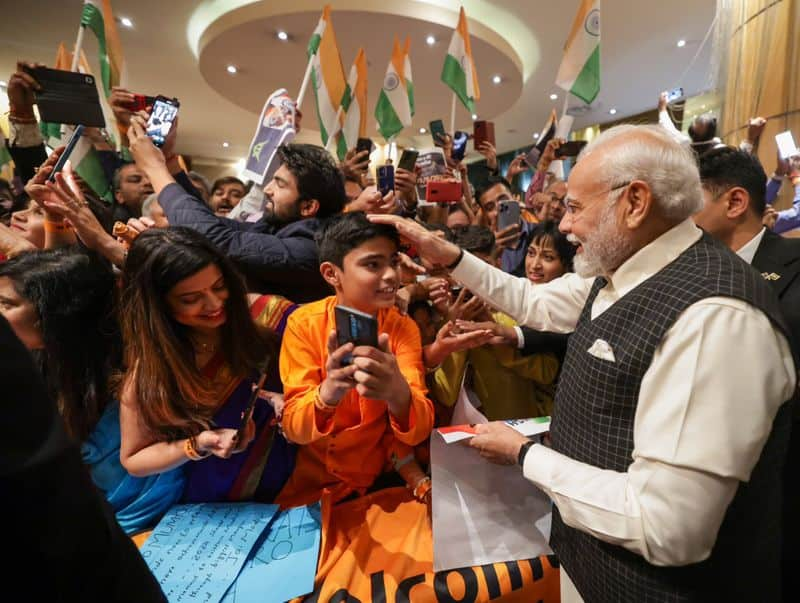
<path id="1" fill-rule="evenodd" d="M 328 334 L 336 328 L 336 297 L 307 304 L 290 317 L 283 334 L 280 371 L 286 405 L 286 437 L 300 444 L 294 472 L 276 502 L 285 507 L 309 504 L 331 491 L 334 501 L 363 494 L 387 466 L 399 442 L 419 444 L 433 429 L 433 405 L 426 397 L 419 329 L 396 308 L 378 313 L 378 332 L 388 333 L 389 347 L 411 388 L 408 420 L 401 424 L 386 402 L 345 394 L 335 413 L 314 405 L 325 379 Z"/>

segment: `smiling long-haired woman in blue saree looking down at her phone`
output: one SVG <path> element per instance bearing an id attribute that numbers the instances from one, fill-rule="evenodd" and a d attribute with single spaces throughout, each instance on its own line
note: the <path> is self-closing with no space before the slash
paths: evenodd
<path id="1" fill-rule="evenodd" d="M 254 318 L 267 305 L 276 316 L 293 306 L 266 298 L 248 308 L 230 261 L 186 228 L 140 235 L 123 284 L 123 466 L 139 477 L 181 467 L 183 502 L 271 502 L 293 469 L 294 449 L 277 429 L 278 336 Z M 238 434 L 265 369 L 270 391 Z"/>

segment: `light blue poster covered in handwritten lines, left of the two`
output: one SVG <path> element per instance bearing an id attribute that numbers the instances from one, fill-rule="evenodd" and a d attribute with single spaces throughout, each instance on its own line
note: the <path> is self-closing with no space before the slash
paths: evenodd
<path id="1" fill-rule="evenodd" d="M 217 603 L 236 579 L 277 505 L 176 505 L 141 553 L 170 603 Z"/>

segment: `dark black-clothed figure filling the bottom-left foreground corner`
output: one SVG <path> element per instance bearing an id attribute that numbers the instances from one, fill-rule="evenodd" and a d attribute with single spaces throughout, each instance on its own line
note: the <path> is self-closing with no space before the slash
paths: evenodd
<path id="1" fill-rule="evenodd" d="M 3 600 L 165 602 L 3 317 L 0 358 Z"/>

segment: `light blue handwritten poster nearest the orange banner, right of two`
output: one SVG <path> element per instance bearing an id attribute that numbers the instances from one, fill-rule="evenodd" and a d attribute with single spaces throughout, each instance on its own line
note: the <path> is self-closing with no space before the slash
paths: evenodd
<path id="1" fill-rule="evenodd" d="M 282 603 L 313 591 L 321 527 L 319 503 L 281 512 L 222 603 Z"/>

